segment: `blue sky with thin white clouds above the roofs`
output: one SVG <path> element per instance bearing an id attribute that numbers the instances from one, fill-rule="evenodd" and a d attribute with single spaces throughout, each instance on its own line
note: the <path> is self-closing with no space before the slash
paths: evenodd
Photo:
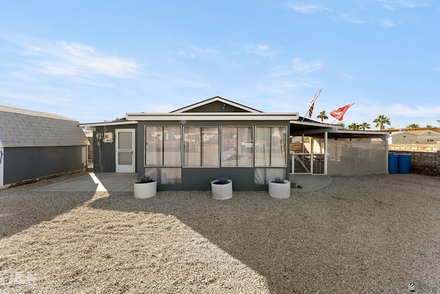
<path id="1" fill-rule="evenodd" d="M 0 104 L 94 123 L 221 96 L 440 124 L 440 2 L 0 1 Z"/>

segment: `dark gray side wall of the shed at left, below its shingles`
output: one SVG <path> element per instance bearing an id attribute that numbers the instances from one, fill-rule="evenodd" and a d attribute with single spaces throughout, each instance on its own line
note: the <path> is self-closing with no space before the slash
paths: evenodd
<path id="1" fill-rule="evenodd" d="M 4 184 L 82 169 L 82 146 L 4 149 Z"/>

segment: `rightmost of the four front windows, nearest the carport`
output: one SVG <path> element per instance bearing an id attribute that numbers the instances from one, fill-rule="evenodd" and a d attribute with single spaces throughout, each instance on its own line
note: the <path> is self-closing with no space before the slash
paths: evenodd
<path id="1" fill-rule="evenodd" d="M 286 157 L 286 127 L 256 127 L 255 128 L 255 166 L 285 167 Z"/>

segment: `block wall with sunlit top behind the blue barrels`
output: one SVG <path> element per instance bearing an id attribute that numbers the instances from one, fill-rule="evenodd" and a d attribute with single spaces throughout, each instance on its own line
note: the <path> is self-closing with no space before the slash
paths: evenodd
<path id="1" fill-rule="evenodd" d="M 411 154 L 410 172 L 440 176 L 440 142 L 437 144 L 390 144 L 390 154 Z"/>

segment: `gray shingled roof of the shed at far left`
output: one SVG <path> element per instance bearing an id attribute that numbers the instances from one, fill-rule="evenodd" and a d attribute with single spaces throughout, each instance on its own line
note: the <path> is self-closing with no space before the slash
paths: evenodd
<path id="1" fill-rule="evenodd" d="M 0 147 L 89 145 L 76 120 L 0 105 Z"/>

